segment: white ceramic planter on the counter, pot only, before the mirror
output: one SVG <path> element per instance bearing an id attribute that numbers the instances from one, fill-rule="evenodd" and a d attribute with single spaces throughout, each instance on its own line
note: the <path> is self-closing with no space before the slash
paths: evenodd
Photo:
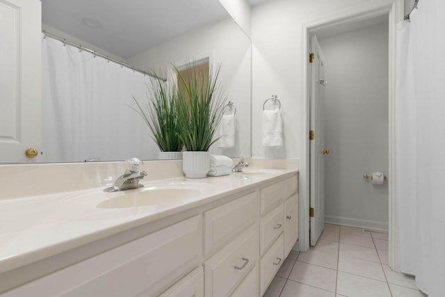
<path id="1" fill-rule="evenodd" d="M 182 171 L 187 178 L 207 177 L 209 169 L 209 152 L 182 152 Z"/>

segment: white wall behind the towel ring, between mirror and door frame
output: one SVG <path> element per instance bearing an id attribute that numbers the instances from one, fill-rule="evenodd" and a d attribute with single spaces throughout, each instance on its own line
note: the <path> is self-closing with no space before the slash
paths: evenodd
<path id="1" fill-rule="evenodd" d="M 252 9 L 252 156 L 300 158 L 302 106 L 301 25 L 370 3 L 391 0 L 269 0 Z M 261 110 L 277 94 L 282 103 L 284 146 L 261 147 Z"/>

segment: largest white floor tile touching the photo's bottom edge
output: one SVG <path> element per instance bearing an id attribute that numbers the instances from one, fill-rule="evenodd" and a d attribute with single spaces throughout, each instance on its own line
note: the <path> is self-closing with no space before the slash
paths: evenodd
<path id="1" fill-rule="evenodd" d="M 387 282 L 339 271 L 337 293 L 349 297 L 391 297 Z"/>

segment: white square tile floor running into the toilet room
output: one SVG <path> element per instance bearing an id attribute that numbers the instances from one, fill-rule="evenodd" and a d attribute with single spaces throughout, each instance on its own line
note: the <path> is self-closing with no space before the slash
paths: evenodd
<path id="1" fill-rule="evenodd" d="M 424 297 L 414 278 L 388 266 L 387 234 L 325 224 L 316 246 L 291 251 L 264 297 Z"/>

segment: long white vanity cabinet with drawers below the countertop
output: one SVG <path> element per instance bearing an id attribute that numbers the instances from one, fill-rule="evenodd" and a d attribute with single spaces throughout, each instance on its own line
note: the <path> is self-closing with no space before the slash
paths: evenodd
<path id="1" fill-rule="evenodd" d="M 298 239 L 298 175 L 274 180 L 165 216 L 161 229 L 140 225 L 149 234 L 0 296 L 263 296 Z"/>

